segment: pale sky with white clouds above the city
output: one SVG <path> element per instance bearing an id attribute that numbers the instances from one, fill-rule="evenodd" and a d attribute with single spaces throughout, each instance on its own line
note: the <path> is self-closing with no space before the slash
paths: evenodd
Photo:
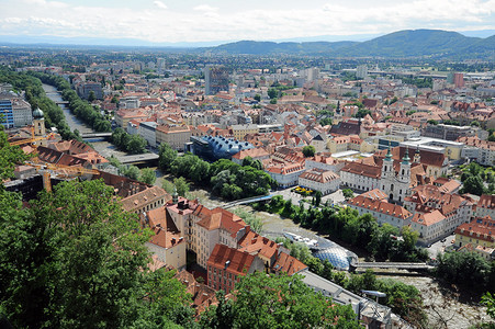
<path id="1" fill-rule="evenodd" d="M 194 43 L 415 29 L 495 30 L 495 0 L 0 0 L 0 35 Z"/>

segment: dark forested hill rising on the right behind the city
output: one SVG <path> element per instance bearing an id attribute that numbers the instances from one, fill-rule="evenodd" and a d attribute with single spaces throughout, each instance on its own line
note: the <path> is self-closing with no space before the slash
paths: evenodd
<path id="1" fill-rule="evenodd" d="M 406 30 L 367 42 L 273 43 L 241 41 L 204 52 L 252 55 L 326 55 L 329 57 L 420 57 L 486 58 L 495 50 L 495 36 L 469 37 L 441 30 Z"/>

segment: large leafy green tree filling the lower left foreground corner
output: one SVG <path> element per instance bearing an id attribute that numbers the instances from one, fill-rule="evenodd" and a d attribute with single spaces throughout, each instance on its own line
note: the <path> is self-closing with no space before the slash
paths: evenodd
<path id="1" fill-rule="evenodd" d="M 173 273 L 143 271 L 150 232 L 102 181 L 63 182 L 29 208 L 0 193 L 0 309 L 14 327 L 164 327 L 189 305 Z"/>

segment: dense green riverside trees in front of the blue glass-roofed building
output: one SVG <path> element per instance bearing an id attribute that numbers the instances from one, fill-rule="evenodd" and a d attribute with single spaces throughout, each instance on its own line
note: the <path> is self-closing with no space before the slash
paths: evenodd
<path id="1" fill-rule="evenodd" d="M 164 172 L 177 178 L 210 186 L 213 194 L 226 200 L 266 195 L 274 184 L 268 173 L 257 169 L 260 166 L 257 161 L 252 161 L 257 168 L 239 166 L 227 159 L 210 163 L 191 154 L 178 157 L 177 151 L 166 144 L 159 148 L 159 166 Z"/>

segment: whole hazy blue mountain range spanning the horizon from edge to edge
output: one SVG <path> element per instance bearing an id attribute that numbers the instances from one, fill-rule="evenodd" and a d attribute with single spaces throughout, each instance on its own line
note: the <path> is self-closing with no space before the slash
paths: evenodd
<path id="1" fill-rule="evenodd" d="M 213 54 L 250 54 L 250 55 L 322 55 L 328 57 L 432 57 L 432 58 L 480 58 L 495 59 L 495 35 L 493 30 L 457 32 L 442 30 L 405 30 L 374 37 L 364 42 L 353 41 L 315 41 L 317 37 L 294 38 L 293 42 L 256 42 L 239 41 L 233 43 L 153 43 L 147 41 L 120 38 L 105 39 L 97 37 L 55 37 L 55 36 L 5 36 L 0 35 L 0 45 L 53 46 L 119 48 L 146 47 L 164 50 L 213 53 Z M 470 35 L 470 36 L 466 36 Z M 492 35 L 492 36 L 488 36 Z M 487 36 L 487 37 L 480 37 Z M 322 39 L 337 39 L 337 36 L 324 35 Z M 302 42 L 295 42 L 295 41 Z M 86 45 L 86 46 L 81 46 Z"/>

